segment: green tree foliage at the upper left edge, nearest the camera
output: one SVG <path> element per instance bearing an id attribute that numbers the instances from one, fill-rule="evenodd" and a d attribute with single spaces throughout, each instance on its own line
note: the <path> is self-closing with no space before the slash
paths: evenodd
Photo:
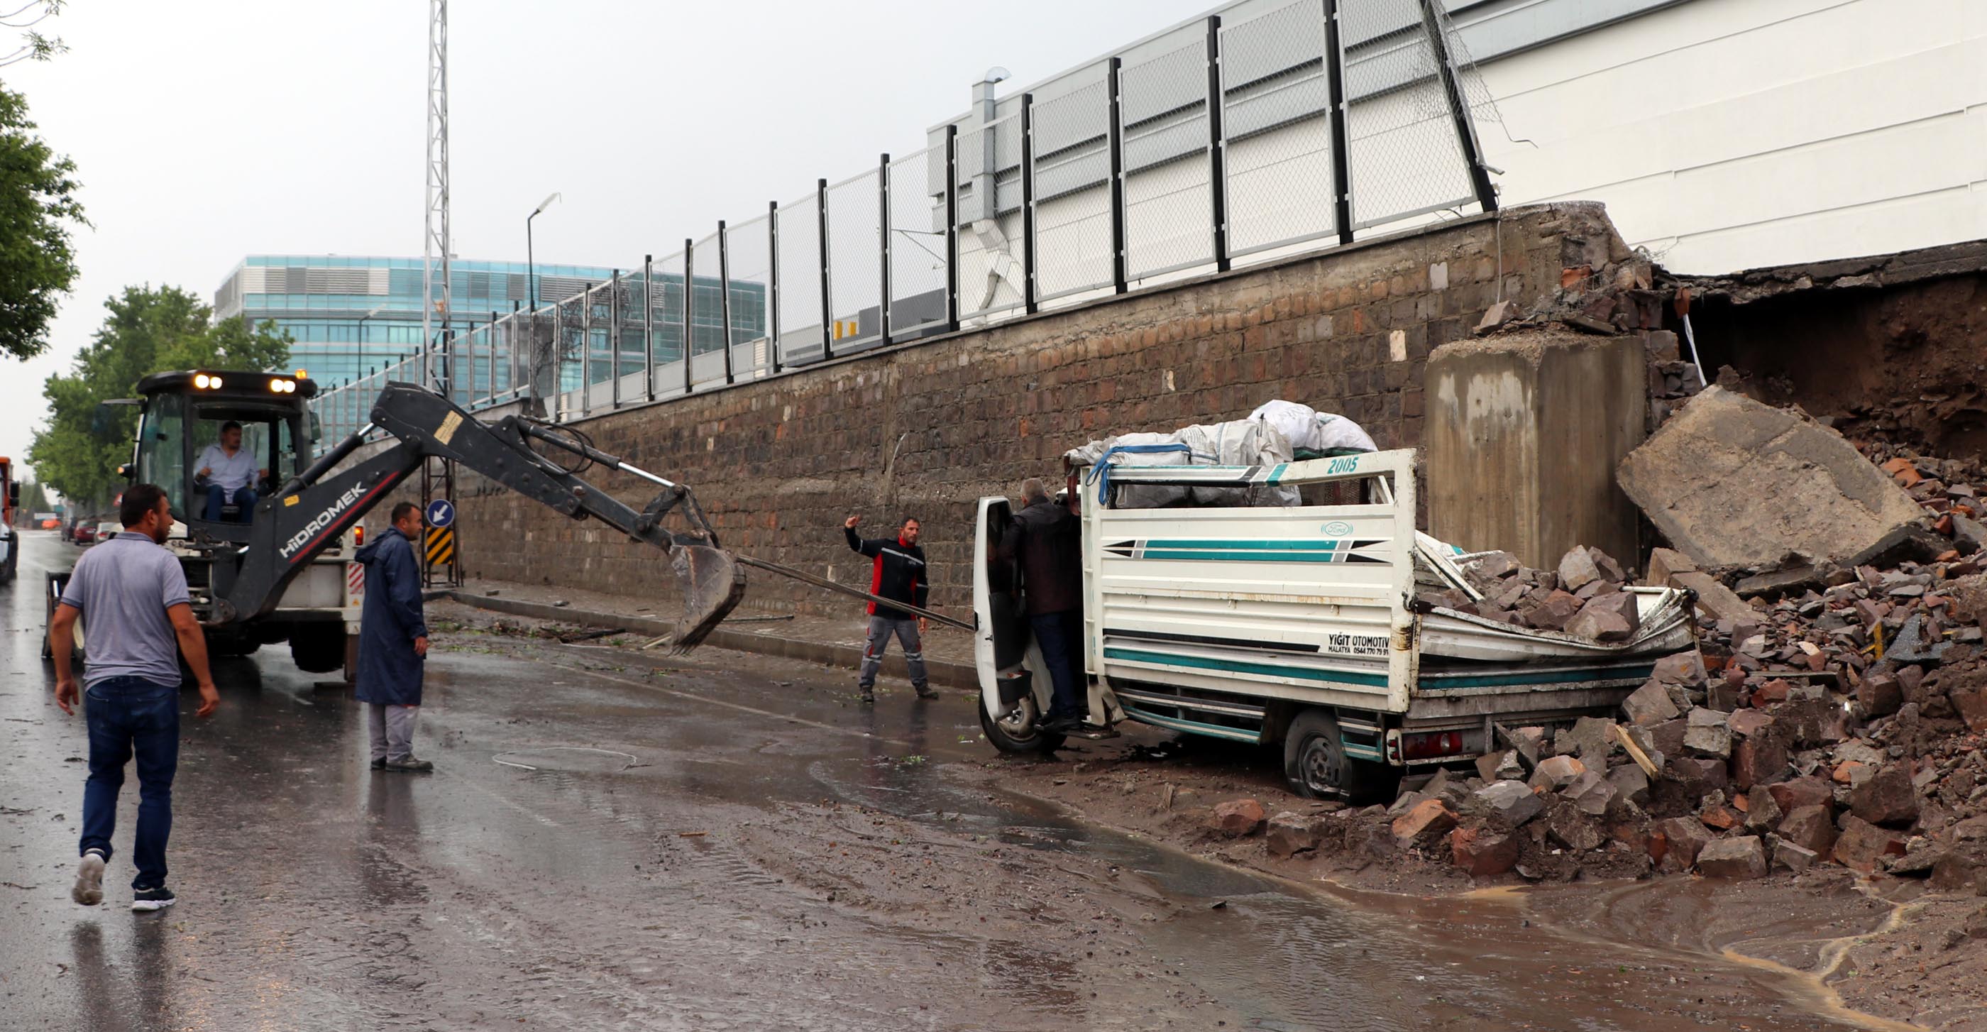
<path id="1" fill-rule="evenodd" d="M 89 225 L 77 189 L 76 163 L 34 133 L 22 95 L 0 87 L 0 354 L 48 350 L 56 300 L 76 282 L 70 227 Z"/>

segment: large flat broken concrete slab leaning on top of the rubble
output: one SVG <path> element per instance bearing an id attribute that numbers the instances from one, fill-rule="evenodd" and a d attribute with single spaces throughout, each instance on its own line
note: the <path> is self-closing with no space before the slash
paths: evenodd
<path id="1" fill-rule="evenodd" d="M 1719 386 L 1621 459 L 1617 477 L 1699 567 L 1762 567 L 1790 551 L 1848 559 L 1921 515 L 1834 430 Z"/>

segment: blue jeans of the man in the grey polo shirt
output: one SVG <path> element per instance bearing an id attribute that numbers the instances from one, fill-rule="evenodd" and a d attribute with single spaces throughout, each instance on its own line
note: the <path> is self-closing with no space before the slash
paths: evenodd
<path id="1" fill-rule="evenodd" d="M 111 859 L 123 766 L 137 756 L 137 863 L 133 889 L 165 885 L 165 839 L 173 835 L 173 774 L 179 770 L 179 686 L 145 678 L 105 678 L 83 696 L 89 724 L 89 779 L 83 781 L 83 841 Z"/>

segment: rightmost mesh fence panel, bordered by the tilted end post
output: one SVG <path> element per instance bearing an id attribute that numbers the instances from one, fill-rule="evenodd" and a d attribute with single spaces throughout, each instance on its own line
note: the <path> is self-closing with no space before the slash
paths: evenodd
<path id="1" fill-rule="evenodd" d="M 1345 36 L 1345 135 L 1353 227 L 1470 201 L 1435 48 L 1417 0 L 1361 0 L 1339 8 Z"/>

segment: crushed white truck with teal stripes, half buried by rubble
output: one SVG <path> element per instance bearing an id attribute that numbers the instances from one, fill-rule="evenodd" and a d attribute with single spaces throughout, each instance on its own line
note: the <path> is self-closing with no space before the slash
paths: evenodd
<path id="1" fill-rule="evenodd" d="M 1609 712 L 1657 658 L 1695 646 L 1693 599 L 1673 589 L 1625 589 L 1639 626 L 1615 644 L 1417 602 L 1417 583 L 1480 593 L 1460 569 L 1470 555 L 1415 529 L 1413 449 L 1129 463 L 1154 457 L 1174 461 L 1105 451 L 1071 477 L 1093 726 L 1282 744 L 1296 791 L 1367 799 L 1415 768 L 1500 748 L 1498 724 Z M 1007 499 L 980 501 L 982 726 L 1003 752 L 1043 752 L 1063 736 L 1039 728 L 1049 678 L 1025 585 L 995 559 L 1009 523 Z"/>

